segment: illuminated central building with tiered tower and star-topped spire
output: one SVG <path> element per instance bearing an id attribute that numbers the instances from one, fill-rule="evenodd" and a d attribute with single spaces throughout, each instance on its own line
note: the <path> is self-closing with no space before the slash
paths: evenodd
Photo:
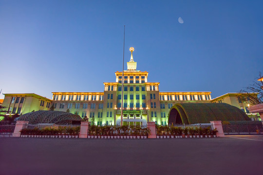
<path id="1" fill-rule="evenodd" d="M 160 92 L 158 82 L 148 82 L 147 71 L 136 70 L 131 59 L 124 70 L 123 124 L 168 124 L 169 109 L 176 103 L 210 103 L 211 92 Z M 94 118 L 97 125 L 121 122 L 122 71 L 115 72 L 115 82 L 105 82 L 104 92 L 52 92 L 55 110 Z"/>

